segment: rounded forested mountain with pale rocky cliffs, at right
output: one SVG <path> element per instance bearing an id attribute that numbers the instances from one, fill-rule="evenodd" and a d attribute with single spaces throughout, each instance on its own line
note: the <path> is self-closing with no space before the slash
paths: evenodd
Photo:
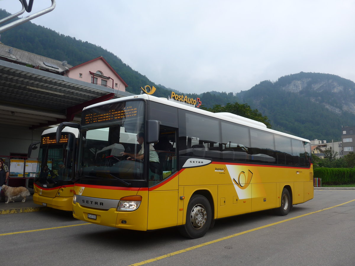
<path id="1" fill-rule="evenodd" d="M 291 74 L 237 97 L 266 115 L 273 129 L 307 139 L 339 141 L 341 127 L 355 124 L 355 83 L 332 74 Z"/>

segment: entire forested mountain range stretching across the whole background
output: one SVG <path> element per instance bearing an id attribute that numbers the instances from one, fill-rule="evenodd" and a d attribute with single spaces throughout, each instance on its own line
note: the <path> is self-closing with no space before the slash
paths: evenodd
<path id="1" fill-rule="evenodd" d="M 0 9 L 0 19 L 9 15 Z M 267 116 L 273 129 L 307 139 L 338 141 L 342 125 L 355 125 L 355 83 L 332 74 L 301 72 L 280 77 L 276 82 L 262 81 L 237 94 L 212 91 L 198 95 L 155 84 L 112 52 L 32 22 L 1 33 L 1 42 L 67 61 L 72 66 L 103 56 L 129 85 L 128 92 L 139 94 L 141 86 L 153 85 L 157 88 L 155 96 L 166 97 L 173 90 L 189 98 L 200 98 L 206 108 L 216 104 L 223 106 L 228 102 L 247 103 Z"/>

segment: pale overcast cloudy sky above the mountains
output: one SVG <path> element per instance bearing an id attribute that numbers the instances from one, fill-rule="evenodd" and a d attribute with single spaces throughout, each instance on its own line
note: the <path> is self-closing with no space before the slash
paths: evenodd
<path id="1" fill-rule="evenodd" d="M 34 0 L 33 12 L 50 5 Z M 301 71 L 355 81 L 354 11 L 350 0 L 58 0 L 32 22 L 99 45 L 165 87 L 236 93 Z"/>

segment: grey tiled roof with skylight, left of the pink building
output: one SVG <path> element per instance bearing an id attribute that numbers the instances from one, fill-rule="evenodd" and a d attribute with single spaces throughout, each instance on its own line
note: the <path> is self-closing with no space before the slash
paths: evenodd
<path id="1" fill-rule="evenodd" d="M 2 43 L 0 43 L 0 59 L 58 74 L 72 67 L 66 61 L 58 61 L 45 56 L 36 55 Z"/>

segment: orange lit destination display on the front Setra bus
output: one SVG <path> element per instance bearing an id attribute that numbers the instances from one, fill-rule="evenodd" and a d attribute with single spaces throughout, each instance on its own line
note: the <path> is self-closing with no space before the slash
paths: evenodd
<path id="1" fill-rule="evenodd" d="M 124 107 L 123 110 L 111 109 L 104 113 L 93 110 L 93 112 L 85 114 L 84 124 L 122 121 L 132 116 L 137 116 L 137 107 L 128 106 Z"/>

